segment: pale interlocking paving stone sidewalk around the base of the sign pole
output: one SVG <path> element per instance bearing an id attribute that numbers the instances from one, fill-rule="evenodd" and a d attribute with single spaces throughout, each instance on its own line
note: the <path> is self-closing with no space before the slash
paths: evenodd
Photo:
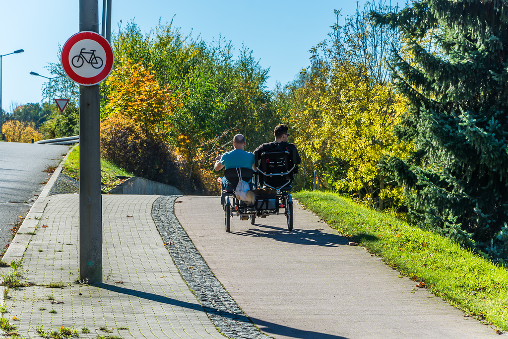
<path id="1" fill-rule="evenodd" d="M 189 291 L 164 246 L 151 217 L 157 196 L 103 196 L 103 284 L 74 284 L 78 279 L 79 195 L 46 198 L 41 225 L 24 255 L 27 282 L 9 293 L 6 305 L 18 321 L 18 333 L 39 337 L 60 326 L 80 337 L 224 338 Z M 127 217 L 127 216 L 132 217 Z M 7 272 L 8 268 L 1 268 Z M 122 281 L 123 284 L 115 282 Z M 64 288 L 49 288 L 62 282 Z M 81 293 L 81 295 L 80 295 Z M 55 301 L 51 303 L 48 296 Z M 45 307 L 46 310 L 39 310 Z M 55 310 L 51 314 L 49 311 Z M 104 326 L 113 333 L 100 330 Z M 87 327 L 90 333 L 81 333 Z M 119 329 L 126 327 L 128 329 Z"/>

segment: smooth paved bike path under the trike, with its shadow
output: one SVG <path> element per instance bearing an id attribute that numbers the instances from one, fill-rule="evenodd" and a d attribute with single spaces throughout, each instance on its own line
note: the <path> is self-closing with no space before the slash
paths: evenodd
<path id="1" fill-rule="evenodd" d="M 218 197 L 184 196 L 175 214 L 209 267 L 263 332 L 287 338 L 499 337 L 295 205 L 224 227 Z"/>

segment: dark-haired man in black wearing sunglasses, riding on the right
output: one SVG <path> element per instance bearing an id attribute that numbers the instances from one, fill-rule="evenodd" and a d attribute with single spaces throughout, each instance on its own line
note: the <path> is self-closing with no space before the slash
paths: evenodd
<path id="1" fill-rule="evenodd" d="M 298 165 L 301 162 L 300 155 L 298 154 L 298 150 L 296 146 L 292 143 L 288 142 L 289 138 L 289 128 L 288 125 L 277 125 L 273 130 L 273 135 L 275 136 L 275 141 L 265 143 L 260 145 L 254 151 L 255 159 L 257 159 L 256 166 L 259 167 L 259 160 L 261 159 L 261 155 L 265 152 L 277 152 L 277 151 L 289 151 L 289 159 L 290 164 L 289 167 L 293 167 L 293 165 Z M 298 166 L 290 173 L 291 180 L 293 180 L 293 175 L 298 173 Z M 260 179 L 261 181 L 261 179 Z M 263 182 L 260 182 L 261 186 L 263 186 Z"/>

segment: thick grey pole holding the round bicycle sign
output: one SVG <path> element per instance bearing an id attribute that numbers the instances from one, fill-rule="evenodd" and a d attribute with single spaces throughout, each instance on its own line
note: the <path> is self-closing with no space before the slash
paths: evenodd
<path id="1" fill-rule="evenodd" d="M 99 32 L 98 0 L 79 0 L 79 30 Z M 79 86 L 79 279 L 102 283 L 99 85 Z"/>

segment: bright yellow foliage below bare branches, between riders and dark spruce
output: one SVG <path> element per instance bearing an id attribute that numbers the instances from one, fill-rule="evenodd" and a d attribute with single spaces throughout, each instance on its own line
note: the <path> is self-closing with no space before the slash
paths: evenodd
<path id="1" fill-rule="evenodd" d="M 321 164 L 335 189 L 369 204 L 373 195 L 401 199 L 402 190 L 385 182 L 378 163 L 385 156 L 409 155 L 411 145 L 396 142 L 393 134 L 405 101 L 391 84 L 370 81 L 361 76 L 365 70 L 352 65 L 326 71 L 331 80 L 314 77 L 305 89 L 304 109 L 295 114 L 298 146 Z"/>

